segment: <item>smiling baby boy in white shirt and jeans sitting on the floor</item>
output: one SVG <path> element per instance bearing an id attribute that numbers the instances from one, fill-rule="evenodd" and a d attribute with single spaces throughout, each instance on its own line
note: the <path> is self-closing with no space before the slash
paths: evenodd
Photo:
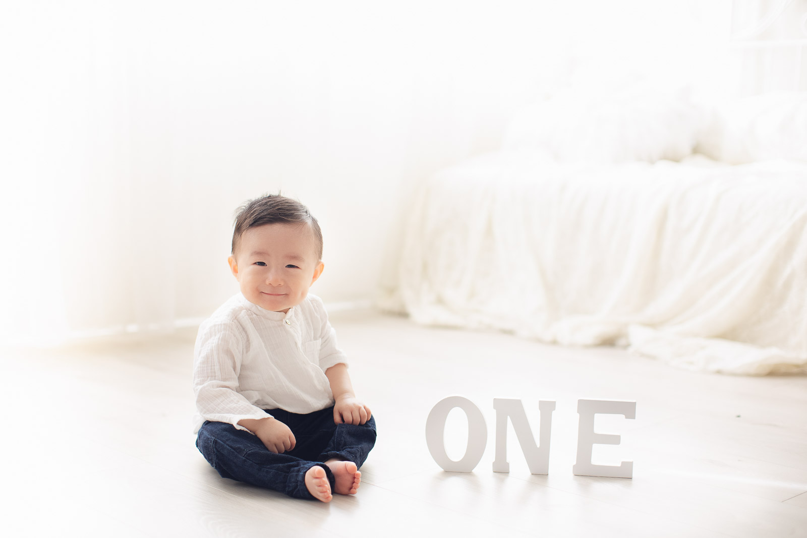
<path id="1" fill-rule="evenodd" d="M 236 294 L 199 327 L 196 446 L 224 478 L 324 503 L 355 494 L 375 419 L 353 393 L 322 301 L 322 233 L 280 195 L 236 215 Z"/>

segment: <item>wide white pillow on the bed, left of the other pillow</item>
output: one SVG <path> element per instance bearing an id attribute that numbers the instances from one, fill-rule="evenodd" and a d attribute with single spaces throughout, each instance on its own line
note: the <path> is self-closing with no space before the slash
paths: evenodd
<path id="1" fill-rule="evenodd" d="M 702 118 L 684 88 L 570 91 L 516 115 L 503 146 L 543 149 L 561 162 L 679 161 L 692 153 Z"/>

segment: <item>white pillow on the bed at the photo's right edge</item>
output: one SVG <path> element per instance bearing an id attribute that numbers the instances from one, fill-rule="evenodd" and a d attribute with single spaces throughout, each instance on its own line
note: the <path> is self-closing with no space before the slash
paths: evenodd
<path id="1" fill-rule="evenodd" d="M 731 165 L 807 161 L 807 92 L 771 92 L 717 104 L 696 149 Z"/>

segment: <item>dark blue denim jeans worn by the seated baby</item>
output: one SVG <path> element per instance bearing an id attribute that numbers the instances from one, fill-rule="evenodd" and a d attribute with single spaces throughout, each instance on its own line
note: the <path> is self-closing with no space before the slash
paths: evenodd
<path id="1" fill-rule="evenodd" d="M 328 475 L 331 491 L 334 477 L 324 461 L 353 461 L 361 467 L 375 444 L 375 418 L 359 426 L 333 423 L 333 407 L 298 415 L 282 409 L 267 413 L 286 424 L 295 436 L 295 448 L 275 454 L 257 436 L 224 422 L 203 423 L 196 448 L 224 478 L 280 491 L 296 498 L 314 498 L 305 486 L 305 473 L 320 465 Z"/>

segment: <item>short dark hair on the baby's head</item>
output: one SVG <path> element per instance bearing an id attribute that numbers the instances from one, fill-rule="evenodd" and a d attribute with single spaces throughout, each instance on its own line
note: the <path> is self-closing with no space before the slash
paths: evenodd
<path id="1" fill-rule="evenodd" d="M 308 211 L 306 206 L 291 198 L 278 194 L 264 194 L 259 198 L 247 200 L 236 209 L 236 224 L 232 231 L 232 255 L 236 255 L 241 236 L 249 228 L 264 224 L 286 223 L 307 224 L 314 234 L 316 260 L 322 260 L 322 231 L 320 224 Z"/>

